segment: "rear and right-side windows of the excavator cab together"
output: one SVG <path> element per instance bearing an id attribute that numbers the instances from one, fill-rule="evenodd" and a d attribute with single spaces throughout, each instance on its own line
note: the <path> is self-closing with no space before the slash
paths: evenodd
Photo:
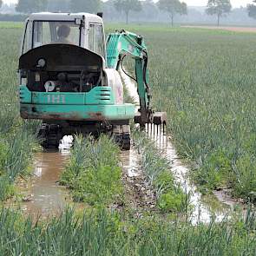
<path id="1" fill-rule="evenodd" d="M 86 40 L 84 37 L 86 36 Z M 105 37 L 102 23 L 89 23 L 85 31 L 77 21 L 28 21 L 21 54 L 46 44 L 64 43 L 89 49 L 105 58 Z"/>

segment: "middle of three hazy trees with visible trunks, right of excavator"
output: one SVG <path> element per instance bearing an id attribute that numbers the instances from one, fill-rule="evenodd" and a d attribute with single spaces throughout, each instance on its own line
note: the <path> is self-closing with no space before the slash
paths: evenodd
<path id="1" fill-rule="evenodd" d="M 179 0 L 159 0 L 158 7 L 160 10 L 167 11 L 171 17 L 172 27 L 174 26 L 174 16 L 176 14 L 187 15 L 187 4 Z"/>

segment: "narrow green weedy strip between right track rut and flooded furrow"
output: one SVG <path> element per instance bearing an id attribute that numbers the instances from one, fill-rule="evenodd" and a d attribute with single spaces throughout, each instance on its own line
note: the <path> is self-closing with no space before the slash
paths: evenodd
<path id="1" fill-rule="evenodd" d="M 174 181 L 166 157 L 143 133 L 135 130 L 133 137 L 135 147 L 141 153 L 142 169 L 156 191 L 157 207 L 164 213 L 185 213 L 189 204 L 188 197 L 181 189 L 181 185 Z"/>

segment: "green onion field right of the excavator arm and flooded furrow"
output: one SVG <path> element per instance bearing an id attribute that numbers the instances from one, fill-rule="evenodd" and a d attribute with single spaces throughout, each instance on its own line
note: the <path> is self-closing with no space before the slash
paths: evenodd
<path id="1" fill-rule="evenodd" d="M 133 30 L 132 27 L 128 30 Z M 137 28 L 150 58 L 154 107 L 204 194 L 256 200 L 256 34 Z"/>

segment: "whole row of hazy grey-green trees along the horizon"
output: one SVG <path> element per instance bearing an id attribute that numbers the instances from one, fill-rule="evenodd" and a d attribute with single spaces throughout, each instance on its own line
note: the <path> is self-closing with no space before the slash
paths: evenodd
<path id="1" fill-rule="evenodd" d="M 256 0 L 247 5 L 248 16 L 256 19 Z M 0 8 L 3 0 L 0 0 Z M 103 5 L 115 7 L 115 10 L 123 13 L 128 23 L 129 14 L 146 9 L 148 6 L 154 6 L 159 10 L 166 12 L 169 16 L 172 26 L 174 18 L 177 15 L 187 15 L 187 4 L 180 0 L 159 0 L 154 3 L 153 0 L 108 0 L 103 3 L 102 0 L 18 0 L 16 11 L 19 13 L 30 14 L 38 11 L 63 11 L 63 12 L 90 12 L 96 13 L 102 10 Z M 232 10 L 230 0 L 208 0 L 207 15 L 216 16 L 217 24 L 220 25 L 220 19 L 226 16 Z"/>

